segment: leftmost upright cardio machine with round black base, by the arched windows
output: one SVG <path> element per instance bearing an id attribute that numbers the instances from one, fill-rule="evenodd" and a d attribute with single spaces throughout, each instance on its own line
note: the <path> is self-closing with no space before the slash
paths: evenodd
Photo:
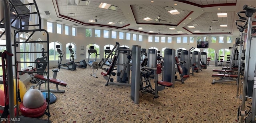
<path id="1" fill-rule="evenodd" d="M 62 54 L 62 51 L 60 50 L 60 45 L 56 45 L 56 48 L 57 48 L 57 52 L 58 52 L 58 64 L 59 65 L 63 65 L 63 66 L 60 66 L 60 68 L 64 68 L 64 69 L 68 69 L 68 70 L 76 70 L 76 63 L 74 61 L 70 61 L 70 62 L 67 62 L 65 64 L 62 64 L 61 61 L 62 61 L 62 57 L 65 53 Z M 71 59 L 70 59 L 71 60 Z"/>

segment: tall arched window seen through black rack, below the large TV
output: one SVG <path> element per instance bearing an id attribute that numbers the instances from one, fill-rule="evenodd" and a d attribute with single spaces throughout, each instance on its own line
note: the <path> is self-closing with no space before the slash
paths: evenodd
<path id="1" fill-rule="evenodd" d="M 26 41 L 30 35 L 28 33 L 20 34 L 20 42 Z M 32 38 L 30 38 L 32 39 Z M 30 40 L 28 40 L 30 41 Z M 20 43 L 20 52 L 31 52 L 32 46 L 31 43 Z M 20 61 L 30 62 L 32 60 L 31 53 L 20 53 Z M 26 68 L 28 66 L 32 66 L 32 63 L 20 63 L 20 69 Z"/>

